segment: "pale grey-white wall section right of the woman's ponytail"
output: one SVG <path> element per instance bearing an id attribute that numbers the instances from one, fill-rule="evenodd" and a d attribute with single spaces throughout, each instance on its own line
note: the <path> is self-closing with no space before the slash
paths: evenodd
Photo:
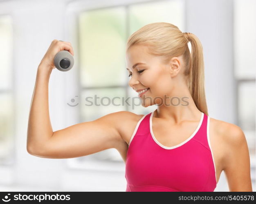
<path id="1" fill-rule="evenodd" d="M 209 116 L 235 123 L 233 0 L 186 2 L 186 32 L 197 35 L 204 50 L 205 92 Z"/>

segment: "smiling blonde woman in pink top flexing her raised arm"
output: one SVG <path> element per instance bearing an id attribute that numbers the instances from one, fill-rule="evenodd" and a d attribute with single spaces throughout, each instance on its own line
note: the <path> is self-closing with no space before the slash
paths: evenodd
<path id="1" fill-rule="evenodd" d="M 74 55 L 70 42 L 54 40 L 38 66 L 27 131 L 31 155 L 72 158 L 115 148 L 126 163 L 126 191 L 214 191 L 222 171 L 230 191 L 252 191 L 243 131 L 208 116 L 195 35 L 158 22 L 128 38 L 129 85 L 143 106 L 157 104 L 155 111 L 119 111 L 53 132 L 47 87 L 54 56 L 64 49 Z"/>

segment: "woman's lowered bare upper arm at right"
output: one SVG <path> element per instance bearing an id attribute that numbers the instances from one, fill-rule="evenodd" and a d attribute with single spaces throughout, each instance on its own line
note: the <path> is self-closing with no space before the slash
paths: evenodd
<path id="1" fill-rule="evenodd" d="M 252 191 L 250 158 L 245 134 L 239 126 L 229 124 L 225 131 L 225 163 L 229 191 Z"/>

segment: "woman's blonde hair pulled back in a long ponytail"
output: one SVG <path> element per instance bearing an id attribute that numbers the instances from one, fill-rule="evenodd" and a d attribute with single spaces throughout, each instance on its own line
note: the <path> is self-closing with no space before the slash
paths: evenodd
<path id="1" fill-rule="evenodd" d="M 191 53 L 188 42 L 191 43 Z M 170 23 L 155 22 L 141 27 L 132 33 L 126 42 L 126 52 L 133 45 L 145 45 L 148 53 L 163 56 L 166 64 L 173 58 L 182 55 L 184 75 L 188 76 L 188 87 L 197 108 L 208 115 L 204 91 L 204 57 L 200 40 L 192 33 L 182 33 Z"/>

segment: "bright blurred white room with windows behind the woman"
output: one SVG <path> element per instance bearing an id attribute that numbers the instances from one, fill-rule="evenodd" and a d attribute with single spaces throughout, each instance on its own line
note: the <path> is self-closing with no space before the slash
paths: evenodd
<path id="1" fill-rule="evenodd" d="M 0 0 L 0 191 L 126 190 L 116 149 L 70 159 L 27 153 L 29 108 L 37 67 L 57 39 L 72 43 L 75 63 L 50 76 L 53 131 L 117 111 L 154 111 L 157 106 L 88 106 L 85 100 L 137 97 L 128 86 L 126 40 L 152 22 L 200 39 L 209 117 L 243 129 L 255 191 L 255 0 Z M 224 172 L 215 191 L 229 191 Z"/>

